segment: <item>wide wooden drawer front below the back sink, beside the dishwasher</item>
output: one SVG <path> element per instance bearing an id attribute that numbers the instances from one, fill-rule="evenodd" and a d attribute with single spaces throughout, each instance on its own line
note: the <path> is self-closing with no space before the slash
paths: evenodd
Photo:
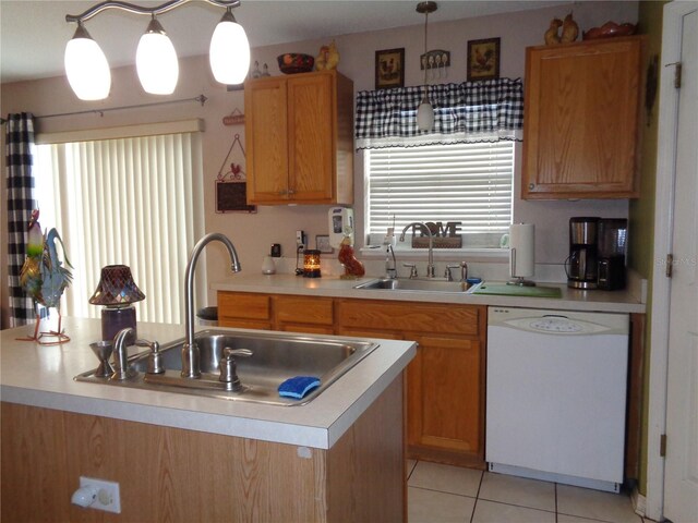
<path id="1" fill-rule="evenodd" d="M 341 328 L 477 336 L 483 307 L 348 300 L 339 303 Z"/>

